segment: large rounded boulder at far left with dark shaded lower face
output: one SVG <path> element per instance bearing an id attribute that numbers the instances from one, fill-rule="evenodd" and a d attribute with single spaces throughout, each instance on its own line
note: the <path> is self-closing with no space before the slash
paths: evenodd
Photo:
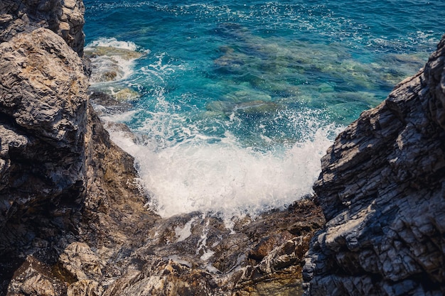
<path id="1" fill-rule="evenodd" d="M 7 259 L 8 250 L 39 245 L 33 229 L 43 224 L 53 224 L 38 231 L 48 245 L 70 219 L 67 209 L 82 202 L 88 82 L 80 57 L 45 28 L 1 43 L 0 69 L 0 251 Z"/>

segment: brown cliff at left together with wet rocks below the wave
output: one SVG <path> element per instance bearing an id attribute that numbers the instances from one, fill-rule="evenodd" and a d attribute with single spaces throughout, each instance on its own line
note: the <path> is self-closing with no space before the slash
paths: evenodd
<path id="1" fill-rule="evenodd" d="M 117 102 L 87 94 L 82 11 L 80 0 L 0 3 L 0 295 L 301 293 L 324 224 L 311 197 L 232 229 L 144 207 L 133 158 L 90 105 Z"/>

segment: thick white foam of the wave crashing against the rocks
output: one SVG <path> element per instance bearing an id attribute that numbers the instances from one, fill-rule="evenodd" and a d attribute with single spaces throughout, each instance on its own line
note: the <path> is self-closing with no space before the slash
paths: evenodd
<path id="1" fill-rule="evenodd" d="M 296 143 L 280 155 L 242 148 L 229 133 L 216 143 L 195 137 L 161 149 L 136 145 L 119 131 L 111 135 L 136 158 L 151 193 L 149 204 L 161 216 L 200 211 L 218 213 L 227 221 L 283 208 L 310 193 L 332 128 L 318 128 L 311 141 Z"/>

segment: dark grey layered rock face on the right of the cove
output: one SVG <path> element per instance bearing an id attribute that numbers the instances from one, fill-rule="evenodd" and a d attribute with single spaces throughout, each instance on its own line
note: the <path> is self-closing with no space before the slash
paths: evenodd
<path id="1" fill-rule="evenodd" d="M 314 184 L 328 220 L 306 295 L 445 293 L 445 37 L 423 70 L 343 131 Z"/>

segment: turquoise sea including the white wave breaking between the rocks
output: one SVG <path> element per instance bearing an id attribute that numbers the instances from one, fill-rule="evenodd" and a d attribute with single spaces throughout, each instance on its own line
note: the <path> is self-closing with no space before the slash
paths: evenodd
<path id="1" fill-rule="evenodd" d="M 427 61 L 445 1 L 84 0 L 91 92 L 162 216 L 284 208 L 336 134 Z"/>

